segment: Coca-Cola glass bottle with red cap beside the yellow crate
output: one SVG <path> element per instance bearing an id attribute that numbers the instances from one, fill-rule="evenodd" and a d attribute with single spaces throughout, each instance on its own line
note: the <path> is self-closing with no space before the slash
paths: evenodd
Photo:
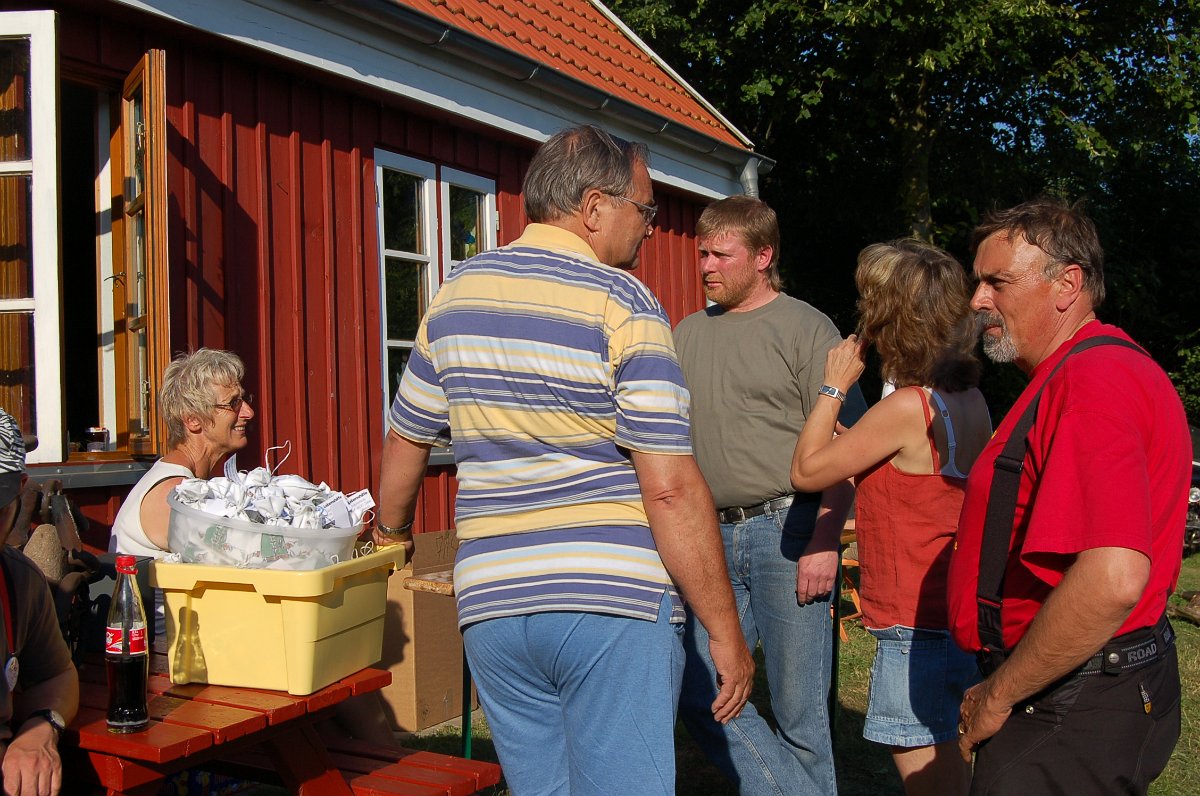
<path id="1" fill-rule="evenodd" d="M 150 723 L 146 710 L 150 648 L 146 645 L 146 612 L 134 580 L 138 573 L 134 562 L 133 556 L 116 557 L 116 588 L 113 589 L 104 633 L 109 732 L 137 732 Z"/>

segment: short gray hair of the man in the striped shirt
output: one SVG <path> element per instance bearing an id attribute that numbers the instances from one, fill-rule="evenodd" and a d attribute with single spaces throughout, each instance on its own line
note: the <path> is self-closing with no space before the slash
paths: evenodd
<path id="1" fill-rule="evenodd" d="M 559 130 L 529 161 L 522 186 L 526 215 L 533 222 L 570 216 L 593 188 L 624 196 L 637 163 L 650 164 L 646 144 L 614 138 L 592 125 Z"/>

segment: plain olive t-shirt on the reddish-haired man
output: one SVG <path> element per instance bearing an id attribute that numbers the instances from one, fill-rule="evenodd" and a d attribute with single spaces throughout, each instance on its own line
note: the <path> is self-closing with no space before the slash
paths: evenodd
<path id="1" fill-rule="evenodd" d="M 718 508 L 794 492 L 796 438 L 823 382 L 826 354 L 841 342 L 833 322 L 780 294 L 750 312 L 694 312 L 676 328 L 674 342 L 691 393 L 692 449 Z"/>

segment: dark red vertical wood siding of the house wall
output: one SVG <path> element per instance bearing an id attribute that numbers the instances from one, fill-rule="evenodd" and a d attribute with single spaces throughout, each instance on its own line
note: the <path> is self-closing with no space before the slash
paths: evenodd
<path id="1" fill-rule="evenodd" d="M 286 472 L 377 489 L 384 406 L 373 151 L 496 180 L 505 244 L 526 223 L 520 192 L 533 146 L 166 23 L 143 29 L 139 19 L 68 6 L 60 52 L 67 76 L 119 88 L 146 48 L 167 50 L 172 349 L 228 348 L 246 361 L 257 418 L 240 467 L 289 441 Z M 692 237 L 704 202 L 668 190 L 656 198 L 637 275 L 678 323 L 704 303 Z M 418 531 L 452 525 L 455 490 L 451 468 L 431 469 Z M 89 502 L 110 522 L 112 501 L 97 493 Z"/>

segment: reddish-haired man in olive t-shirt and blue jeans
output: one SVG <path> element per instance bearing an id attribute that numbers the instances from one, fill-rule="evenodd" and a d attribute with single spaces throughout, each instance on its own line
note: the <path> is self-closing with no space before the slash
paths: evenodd
<path id="1" fill-rule="evenodd" d="M 696 461 L 713 491 L 742 630 L 762 641 L 779 725 L 746 704 L 726 725 L 712 719 L 716 676 L 703 628 L 689 617 L 680 716 L 742 794 L 835 794 L 827 698 L 848 483 L 794 493 L 792 450 L 841 341 L 823 313 L 780 291 L 779 223 L 766 203 L 736 196 L 709 205 L 696 227 L 704 294 L 714 306 L 674 333 L 691 391 Z M 846 415 L 865 405 L 857 390 Z"/>

